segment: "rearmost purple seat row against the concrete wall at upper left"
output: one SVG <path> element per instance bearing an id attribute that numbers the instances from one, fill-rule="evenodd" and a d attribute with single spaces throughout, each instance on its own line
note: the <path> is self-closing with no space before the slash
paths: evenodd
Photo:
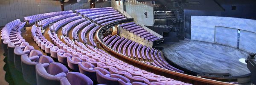
<path id="1" fill-rule="evenodd" d="M 46 19 L 49 17 L 54 17 L 54 16 L 58 16 L 58 15 L 62 15 L 62 14 L 70 14 L 73 13 L 73 11 L 69 10 L 69 11 L 57 11 L 57 12 L 50 12 L 50 13 L 44 13 L 44 14 L 36 14 L 36 15 L 32 15 L 32 16 L 28 16 L 28 17 L 24 17 L 24 21 L 28 21 L 29 24 L 34 23 L 36 21 L 36 18 L 40 19 Z"/>

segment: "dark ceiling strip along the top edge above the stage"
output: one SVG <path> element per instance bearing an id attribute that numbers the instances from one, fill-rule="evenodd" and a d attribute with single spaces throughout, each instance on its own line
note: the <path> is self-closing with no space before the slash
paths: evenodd
<path id="1" fill-rule="evenodd" d="M 164 5 L 168 8 L 173 8 L 174 2 L 179 2 L 178 5 L 184 9 L 191 10 L 208 10 L 208 11 L 225 11 L 221 5 L 256 5 L 256 0 L 137 0 L 139 2 L 155 1 L 156 4 Z"/>

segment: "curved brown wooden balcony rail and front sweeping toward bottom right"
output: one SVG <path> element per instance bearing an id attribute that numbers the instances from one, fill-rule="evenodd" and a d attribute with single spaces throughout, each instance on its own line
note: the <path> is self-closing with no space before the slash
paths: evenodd
<path id="1" fill-rule="evenodd" d="M 122 21 L 122 20 L 120 20 L 120 21 Z M 116 21 L 116 22 L 119 22 L 119 21 Z M 116 23 L 116 22 L 113 22 L 113 23 Z M 102 45 L 102 48 L 104 48 L 105 50 L 110 51 L 111 54 L 114 54 L 114 55 L 118 56 L 117 58 L 119 58 L 121 60 L 124 60 L 124 61 L 128 62 L 131 65 L 136 65 L 137 67 L 142 68 L 144 70 L 151 71 L 155 74 L 159 74 L 159 75 L 162 75 L 162 76 L 165 76 L 165 77 L 170 77 L 172 79 L 176 79 L 176 80 L 179 80 L 179 81 L 182 81 L 182 82 L 187 82 L 187 83 L 191 83 L 191 84 L 195 84 L 195 85 L 236 85 L 236 84 L 227 83 L 227 82 L 220 82 L 220 81 L 216 81 L 216 80 L 205 79 L 205 78 L 201 78 L 201 77 L 195 77 L 195 76 L 191 76 L 191 75 L 188 75 L 188 74 L 178 73 L 178 72 L 175 72 L 175 71 L 169 71 L 169 70 L 159 68 L 159 67 L 156 67 L 156 66 L 153 66 L 153 65 L 145 64 L 143 62 L 138 62 L 135 59 L 132 59 L 130 57 L 126 57 L 125 55 L 116 52 L 111 47 L 106 45 L 99 37 L 99 31 L 102 28 L 105 28 L 106 26 L 111 25 L 113 23 L 109 23 L 105 26 L 100 27 L 96 31 L 96 39 Z"/>

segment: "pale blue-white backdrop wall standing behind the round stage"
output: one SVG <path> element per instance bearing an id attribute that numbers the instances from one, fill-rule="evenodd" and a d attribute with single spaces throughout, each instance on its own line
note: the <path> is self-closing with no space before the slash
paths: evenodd
<path id="1" fill-rule="evenodd" d="M 225 28 L 217 28 L 219 31 L 216 31 L 216 26 Z M 237 47 L 238 29 L 241 30 L 239 48 L 256 52 L 256 20 L 234 17 L 191 16 L 191 40 L 216 42 Z"/>

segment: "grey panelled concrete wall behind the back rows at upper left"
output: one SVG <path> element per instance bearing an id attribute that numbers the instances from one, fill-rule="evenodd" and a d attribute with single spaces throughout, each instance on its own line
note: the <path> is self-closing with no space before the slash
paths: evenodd
<path id="1" fill-rule="evenodd" d="M 23 17 L 61 11 L 60 1 L 54 0 L 0 0 L 0 26 Z"/>

